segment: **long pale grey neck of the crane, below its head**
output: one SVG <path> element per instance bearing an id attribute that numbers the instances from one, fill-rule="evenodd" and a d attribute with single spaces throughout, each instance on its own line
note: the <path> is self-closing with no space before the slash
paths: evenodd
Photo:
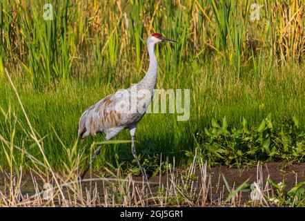
<path id="1" fill-rule="evenodd" d="M 139 82 L 139 84 L 145 84 L 146 88 L 155 89 L 157 82 L 157 59 L 155 55 L 155 44 L 148 44 L 149 55 L 149 68 L 145 77 Z M 144 85 L 143 85 L 144 86 Z"/>

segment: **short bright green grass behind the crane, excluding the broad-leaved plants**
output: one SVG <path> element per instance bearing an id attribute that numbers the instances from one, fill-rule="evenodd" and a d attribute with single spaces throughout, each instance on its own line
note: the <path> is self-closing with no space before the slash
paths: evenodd
<path id="1" fill-rule="evenodd" d="M 177 78 L 175 85 L 170 80 L 170 73 L 161 73 L 157 88 L 190 88 L 190 119 L 186 122 L 177 122 L 176 114 L 145 115 L 136 133 L 138 152 L 150 155 L 162 153 L 163 157 L 170 159 L 175 156 L 179 165 L 185 165 L 191 160 L 186 156 L 186 151 L 195 151 L 197 146 L 197 133 L 209 128 L 212 118 L 221 120 L 224 116 L 227 117 L 228 124 L 235 128 L 242 127 L 244 117 L 251 128 L 271 113 L 274 128 L 279 129 L 283 117 L 291 118 L 295 115 L 299 118 L 300 128 L 304 130 L 303 69 L 302 65 L 291 65 L 284 69 L 271 67 L 259 77 L 255 77 L 255 70 L 249 68 L 242 73 L 242 77 L 236 78 L 234 70 L 225 65 L 206 64 L 186 69 L 184 75 Z M 130 70 L 130 76 L 135 72 L 136 70 Z M 22 77 L 13 78 L 32 126 L 39 136 L 43 137 L 43 148 L 54 169 L 63 169 L 63 162 L 68 162 L 67 151 L 63 146 L 72 148 L 77 141 L 78 120 L 84 109 L 109 93 L 128 87 L 130 81 L 138 81 L 142 77 L 127 77 L 121 84 L 118 77 L 113 79 L 112 84 L 108 84 L 99 79 L 96 73 L 88 71 L 83 75 L 87 77 L 48 90 L 37 90 Z M 42 159 L 38 146 L 32 145 L 32 138 L 23 131 L 23 128 L 27 131 L 28 126 L 8 79 L 4 77 L 1 81 L 3 84 L 0 86 L 0 106 L 4 113 L 11 114 L 6 117 L 7 119 L 0 115 L 1 135 L 14 145 L 23 146 L 29 153 Z M 17 116 L 17 125 L 14 125 L 12 113 Z M 90 144 L 93 141 L 101 142 L 103 139 L 104 135 L 97 135 L 79 142 L 77 153 L 86 153 L 82 155 L 82 160 L 90 157 Z M 120 133 L 115 138 L 129 139 L 128 131 Z M 1 166 L 7 166 L 6 156 L 2 154 L 3 148 L 0 149 Z M 94 167 L 97 169 L 101 165 L 106 165 L 106 162 L 116 164 L 115 154 L 119 155 L 119 162 L 132 162 L 130 144 L 109 144 L 97 157 Z M 14 157 L 17 164 L 24 163 L 20 151 L 14 150 Z M 148 155 L 144 155 L 142 160 L 145 157 Z"/>

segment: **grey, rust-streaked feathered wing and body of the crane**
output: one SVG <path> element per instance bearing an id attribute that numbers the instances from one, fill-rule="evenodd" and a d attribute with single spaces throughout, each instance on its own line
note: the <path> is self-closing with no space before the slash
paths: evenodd
<path id="1" fill-rule="evenodd" d="M 143 97 L 137 97 L 137 101 L 143 102 Z M 147 106 L 150 104 L 151 97 L 145 98 Z M 137 105 L 137 104 L 136 104 Z M 130 88 L 119 90 L 104 97 L 99 102 L 89 106 L 79 119 L 79 137 L 104 132 L 106 139 L 114 137 L 122 129 L 137 124 L 144 111 L 137 112 L 137 107 L 132 106 Z M 133 107 L 133 108 L 132 108 Z"/>

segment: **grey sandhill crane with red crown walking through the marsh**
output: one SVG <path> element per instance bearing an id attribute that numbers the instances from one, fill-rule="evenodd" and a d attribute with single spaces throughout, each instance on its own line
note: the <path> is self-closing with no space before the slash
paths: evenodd
<path id="1" fill-rule="evenodd" d="M 138 84 L 135 84 L 126 90 L 119 90 L 116 93 L 106 96 L 92 106 L 89 106 L 79 119 L 78 134 L 81 139 L 88 135 L 94 136 L 97 133 L 106 133 L 106 140 L 110 140 L 124 128 L 130 128 L 132 155 L 135 157 L 141 175 L 146 181 L 146 173 L 144 173 L 144 170 L 142 169 L 135 150 L 134 137 L 137 123 L 144 116 L 153 99 L 153 93 L 157 82 L 155 44 L 163 41 L 177 43 L 176 41 L 162 37 L 159 33 L 153 33 L 148 37 L 147 48 L 150 61 L 149 68 L 145 77 L 141 79 Z M 99 155 L 100 151 L 101 146 L 98 146 L 92 160 L 85 171 L 80 175 L 80 180 L 83 180 L 90 165 L 95 161 L 95 157 Z"/>

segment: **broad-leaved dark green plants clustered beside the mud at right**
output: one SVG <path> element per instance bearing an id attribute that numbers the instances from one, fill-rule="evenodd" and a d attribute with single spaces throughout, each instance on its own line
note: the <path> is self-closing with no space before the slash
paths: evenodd
<path id="1" fill-rule="evenodd" d="M 282 119 L 277 128 L 273 128 L 270 114 L 250 130 L 245 118 L 239 129 L 230 127 L 226 117 L 221 126 L 212 119 L 211 127 L 197 135 L 201 155 L 211 164 L 244 164 L 251 160 L 299 163 L 305 157 L 305 133 L 300 130 L 295 116 Z"/>

